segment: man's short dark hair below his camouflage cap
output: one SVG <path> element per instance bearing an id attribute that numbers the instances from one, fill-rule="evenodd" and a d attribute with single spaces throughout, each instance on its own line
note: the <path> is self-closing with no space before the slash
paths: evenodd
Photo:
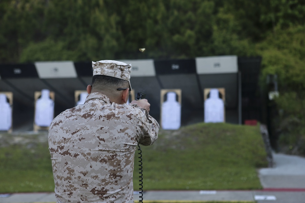
<path id="1" fill-rule="evenodd" d="M 95 89 L 116 89 L 121 87 L 128 87 L 128 81 L 108 75 L 93 75 L 92 88 Z"/>

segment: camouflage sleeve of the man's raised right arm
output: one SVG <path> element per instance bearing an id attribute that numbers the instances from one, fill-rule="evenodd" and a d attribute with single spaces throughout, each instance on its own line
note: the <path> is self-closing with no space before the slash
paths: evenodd
<path id="1" fill-rule="evenodd" d="M 139 107 L 137 104 L 132 104 L 136 108 L 136 132 L 139 138 L 139 144 L 152 145 L 158 138 L 159 124 L 148 114 L 146 109 Z"/>

